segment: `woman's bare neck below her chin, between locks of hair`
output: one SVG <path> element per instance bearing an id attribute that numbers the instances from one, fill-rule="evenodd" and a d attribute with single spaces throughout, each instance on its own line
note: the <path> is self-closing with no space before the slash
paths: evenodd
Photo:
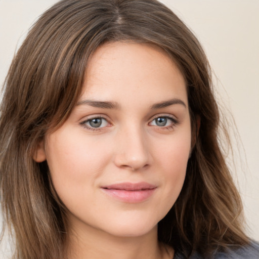
<path id="1" fill-rule="evenodd" d="M 72 233 L 68 236 L 69 259 L 171 259 L 174 255 L 171 248 L 159 244 L 157 227 L 137 237 L 113 236 L 89 226 Z"/>

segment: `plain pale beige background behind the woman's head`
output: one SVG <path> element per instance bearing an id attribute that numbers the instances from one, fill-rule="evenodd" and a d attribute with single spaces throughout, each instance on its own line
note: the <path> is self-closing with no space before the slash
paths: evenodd
<path id="1" fill-rule="evenodd" d="M 1 84 L 28 28 L 56 2 L 0 0 Z M 201 41 L 217 75 L 214 81 L 220 100 L 235 118 L 243 147 L 240 141 L 234 146 L 234 178 L 244 202 L 247 233 L 259 240 L 259 0 L 161 2 L 179 15 Z"/>

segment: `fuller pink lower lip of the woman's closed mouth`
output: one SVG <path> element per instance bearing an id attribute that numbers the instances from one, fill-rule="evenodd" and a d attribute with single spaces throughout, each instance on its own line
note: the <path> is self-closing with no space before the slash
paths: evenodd
<path id="1" fill-rule="evenodd" d="M 109 196 L 118 199 L 123 202 L 128 203 L 138 203 L 147 200 L 152 196 L 156 188 L 153 189 L 145 189 L 140 191 L 126 191 L 126 190 L 118 190 L 118 189 L 105 189 L 102 190 L 108 194 Z"/>

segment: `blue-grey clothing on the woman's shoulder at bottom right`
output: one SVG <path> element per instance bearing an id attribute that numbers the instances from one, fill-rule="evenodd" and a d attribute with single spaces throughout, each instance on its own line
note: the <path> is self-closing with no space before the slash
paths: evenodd
<path id="1" fill-rule="evenodd" d="M 259 243 L 250 242 L 246 246 L 237 249 L 228 249 L 225 252 L 215 252 L 210 256 L 203 256 L 199 253 L 193 253 L 186 257 L 182 253 L 176 253 L 174 259 L 259 259 Z"/>

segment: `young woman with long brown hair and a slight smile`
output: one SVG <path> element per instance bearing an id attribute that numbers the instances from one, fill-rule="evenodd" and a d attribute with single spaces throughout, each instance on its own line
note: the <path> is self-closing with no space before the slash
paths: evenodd
<path id="1" fill-rule="evenodd" d="M 206 56 L 156 1 L 65 0 L 1 106 L 17 258 L 256 258 L 218 141 Z"/>

